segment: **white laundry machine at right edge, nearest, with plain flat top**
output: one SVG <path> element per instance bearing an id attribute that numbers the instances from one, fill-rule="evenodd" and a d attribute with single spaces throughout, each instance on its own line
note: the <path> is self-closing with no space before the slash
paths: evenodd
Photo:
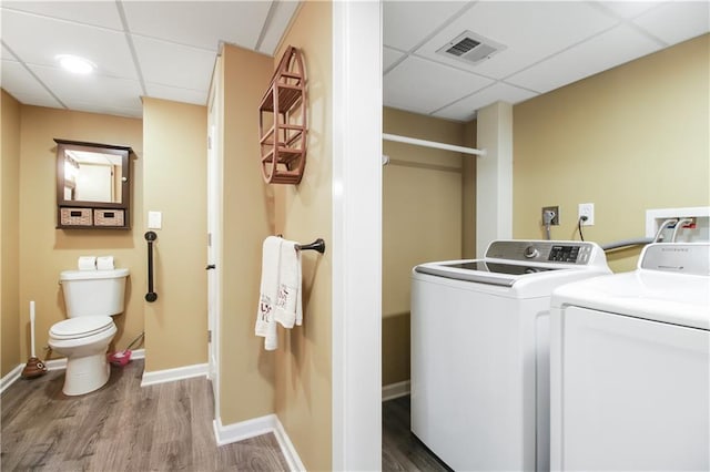
<path id="1" fill-rule="evenodd" d="M 709 265 L 707 243 L 653 244 L 554 291 L 552 470 L 710 470 Z"/>

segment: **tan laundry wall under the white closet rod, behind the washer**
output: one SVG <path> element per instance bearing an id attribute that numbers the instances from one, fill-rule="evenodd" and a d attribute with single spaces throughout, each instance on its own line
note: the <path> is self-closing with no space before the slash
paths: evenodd
<path id="1" fill-rule="evenodd" d="M 383 129 L 422 140 L 468 143 L 462 123 L 394 109 L 383 110 Z M 383 142 L 383 152 L 389 164 L 383 170 L 382 371 L 383 384 L 390 384 L 409 379 L 412 268 L 463 254 L 466 157 L 390 141 Z M 471 204 L 475 211 L 475 201 Z"/>

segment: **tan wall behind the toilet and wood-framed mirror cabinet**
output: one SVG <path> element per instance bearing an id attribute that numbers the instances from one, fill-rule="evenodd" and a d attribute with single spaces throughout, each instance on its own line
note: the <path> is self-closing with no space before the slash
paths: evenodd
<path id="1" fill-rule="evenodd" d="M 143 330 L 145 243 L 140 215 L 143 205 L 142 121 L 93 113 L 22 105 L 20 163 L 20 356 L 29 357 L 30 300 L 37 306 L 39 357 L 50 327 L 65 318 L 59 273 L 77 267 L 84 255 L 113 255 L 131 270 L 126 309 L 113 319 L 119 332 L 109 349 L 124 348 Z M 133 229 L 55 229 L 57 165 L 54 137 L 131 146 Z M 4 230 L 4 228 L 3 228 Z"/>

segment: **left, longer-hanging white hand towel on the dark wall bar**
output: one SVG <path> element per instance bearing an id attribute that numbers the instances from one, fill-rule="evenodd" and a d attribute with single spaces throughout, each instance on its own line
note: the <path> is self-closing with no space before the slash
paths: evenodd
<path id="1" fill-rule="evenodd" d="M 258 309 L 256 310 L 256 336 L 264 339 L 264 348 L 273 351 L 278 347 L 276 337 L 276 320 L 274 308 L 278 293 L 278 259 L 283 239 L 268 236 L 262 247 L 262 281 L 258 294 Z"/>

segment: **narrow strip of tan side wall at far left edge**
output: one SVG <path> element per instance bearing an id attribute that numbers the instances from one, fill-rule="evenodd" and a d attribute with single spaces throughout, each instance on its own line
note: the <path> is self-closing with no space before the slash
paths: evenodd
<path id="1" fill-rule="evenodd" d="M 20 357 L 20 103 L 4 91 L 0 105 L 0 377 L 24 359 Z M 29 308 L 28 308 L 29 309 Z"/>

